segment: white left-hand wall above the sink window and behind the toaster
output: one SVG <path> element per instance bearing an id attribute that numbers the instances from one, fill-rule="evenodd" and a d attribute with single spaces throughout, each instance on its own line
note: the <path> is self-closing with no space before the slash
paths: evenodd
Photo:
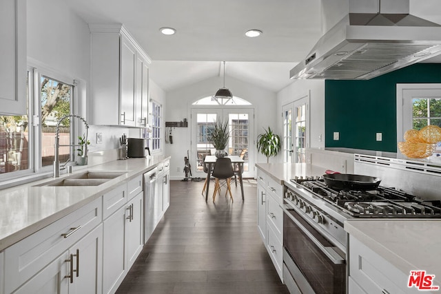
<path id="1" fill-rule="evenodd" d="M 79 80 L 79 114 L 85 116 L 90 97 L 90 31 L 72 10 L 59 0 L 32 0 L 28 10 L 28 59 L 48 67 L 62 76 Z M 150 94 L 165 104 L 165 93 L 150 81 Z M 96 144 L 96 133 L 103 135 L 103 143 Z M 139 136 L 139 129 L 90 125 L 89 151 L 119 148 L 122 134 Z"/>

